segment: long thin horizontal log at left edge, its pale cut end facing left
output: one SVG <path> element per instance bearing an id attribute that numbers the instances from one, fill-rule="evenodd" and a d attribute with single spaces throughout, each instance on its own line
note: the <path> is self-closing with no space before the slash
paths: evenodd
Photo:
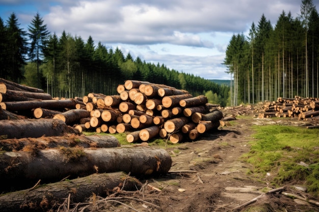
<path id="1" fill-rule="evenodd" d="M 19 110 L 31 110 L 34 108 L 45 108 L 45 109 L 61 109 L 69 108 L 74 109 L 76 101 L 73 99 L 66 100 L 31 100 L 31 101 L 22 101 L 22 102 L 0 102 L 2 109 L 10 111 L 19 111 Z"/>

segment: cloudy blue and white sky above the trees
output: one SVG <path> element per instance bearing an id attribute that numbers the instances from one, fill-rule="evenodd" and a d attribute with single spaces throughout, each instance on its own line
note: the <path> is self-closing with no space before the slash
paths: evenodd
<path id="1" fill-rule="evenodd" d="M 319 10 L 319 0 L 313 0 Z M 0 0 L 4 23 L 14 12 L 28 30 L 37 13 L 49 32 L 91 36 L 97 45 L 204 79 L 230 79 L 222 64 L 233 35 L 248 35 L 264 16 L 300 15 L 301 0 Z"/>

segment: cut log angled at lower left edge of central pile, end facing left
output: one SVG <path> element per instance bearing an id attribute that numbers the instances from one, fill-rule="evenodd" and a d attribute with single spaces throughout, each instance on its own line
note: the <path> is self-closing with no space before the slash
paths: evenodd
<path id="1" fill-rule="evenodd" d="M 53 116 L 53 119 L 60 119 L 67 125 L 78 122 L 81 118 L 90 117 L 90 112 L 83 109 L 72 109 L 63 113 L 58 113 Z"/>

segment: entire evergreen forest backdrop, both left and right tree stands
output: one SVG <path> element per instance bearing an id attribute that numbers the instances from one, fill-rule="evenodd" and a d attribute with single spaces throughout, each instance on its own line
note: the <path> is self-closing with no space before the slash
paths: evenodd
<path id="1" fill-rule="evenodd" d="M 282 11 L 272 25 L 262 14 L 249 36 L 232 36 L 224 60 L 230 86 L 123 55 L 119 48 L 95 44 L 91 36 L 84 41 L 63 31 L 58 37 L 43 22 L 37 13 L 24 29 L 15 13 L 6 21 L 0 17 L 0 77 L 42 88 L 52 97 L 115 95 L 127 79 L 185 89 L 221 106 L 319 93 L 319 16 L 312 0 L 302 0 L 296 18 Z"/>

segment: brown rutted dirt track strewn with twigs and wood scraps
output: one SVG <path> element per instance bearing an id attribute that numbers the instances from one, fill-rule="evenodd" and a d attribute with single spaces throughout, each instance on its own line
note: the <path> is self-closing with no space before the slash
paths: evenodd
<path id="1" fill-rule="evenodd" d="M 252 211 L 319 211 L 319 205 L 291 199 L 278 192 L 263 195 L 262 190 L 274 189 L 272 176 L 254 179 L 247 174 L 250 164 L 240 157 L 250 149 L 253 118 L 234 120 L 233 126 L 219 128 L 194 142 L 184 142 L 167 151 L 172 156 L 170 173 L 158 178 L 141 180 L 161 191 L 145 186 L 139 191 L 116 195 L 117 201 L 95 207 L 98 211 L 241 211 L 253 205 L 263 210 Z M 193 172 L 190 172 L 193 171 Z M 291 185 L 285 191 L 294 193 Z M 248 201 L 258 200 L 238 208 Z M 132 199 L 136 198 L 136 199 Z M 146 201 L 146 202 L 143 202 Z M 152 204 L 150 204 L 152 203 Z M 126 204 L 126 205 L 123 205 Z M 134 209 L 132 209 L 134 208 Z"/>

